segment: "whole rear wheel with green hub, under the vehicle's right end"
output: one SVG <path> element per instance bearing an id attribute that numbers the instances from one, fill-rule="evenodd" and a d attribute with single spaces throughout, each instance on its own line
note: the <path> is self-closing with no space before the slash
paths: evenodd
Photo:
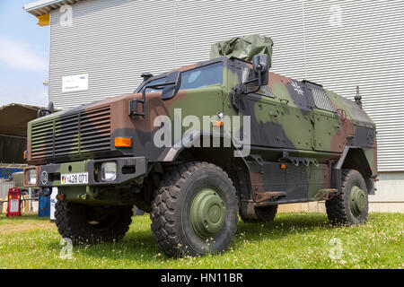
<path id="1" fill-rule="evenodd" d="M 326 201 L 326 209 L 333 225 L 366 222 L 369 211 L 367 188 L 358 171 L 342 170 L 341 193 Z"/>

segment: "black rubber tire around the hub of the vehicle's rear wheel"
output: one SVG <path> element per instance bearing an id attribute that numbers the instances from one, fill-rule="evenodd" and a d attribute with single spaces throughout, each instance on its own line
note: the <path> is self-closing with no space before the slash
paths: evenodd
<path id="1" fill-rule="evenodd" d="M 360 225 L 367 220 L 369 211 L 368 192 L 364 178 L 356 170 L 342 170 L 342 188 L 338 196 L 334 196 L 326 200 L 326 210 L 329 217 L 329 222 L 332 225 Z M 365 209 L 358 216 L 354 215 L 350 206 L 350 192 L 352 187 L 360 187 L 364 190 L 366 205 Z"/>

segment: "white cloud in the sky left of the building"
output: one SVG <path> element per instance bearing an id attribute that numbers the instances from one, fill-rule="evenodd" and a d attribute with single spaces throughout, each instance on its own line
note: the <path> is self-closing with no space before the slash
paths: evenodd
<path id="1" fill-rule="evenodd" d="M 47 61 L 29 43 L 17 42 L 0 36 L 0 62 L 14 69 L 47 71 Z"/>

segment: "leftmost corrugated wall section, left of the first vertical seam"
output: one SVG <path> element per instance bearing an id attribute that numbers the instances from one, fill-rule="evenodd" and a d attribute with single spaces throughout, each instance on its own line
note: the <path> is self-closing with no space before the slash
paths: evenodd
<path id="1" fill-rule="evenodd" d="M 132 92 L 147 71 L 173 67 L 173 1 L 87 0 L 73 26 L 51 13 L 49 99 L 57 108 Z M 89 90 L 62 93 L 62 76 L 89 74 Z"/>

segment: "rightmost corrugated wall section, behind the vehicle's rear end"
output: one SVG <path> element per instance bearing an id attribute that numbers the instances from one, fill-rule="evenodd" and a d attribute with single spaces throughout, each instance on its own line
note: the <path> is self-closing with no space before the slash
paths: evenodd
<path id="1" fill-rule="evenodd" d="M 379 170 L 404 170 L 404 1 L 304 1 L 304 19 L 307 77 L 351 100 L 359 85 Z"/>

